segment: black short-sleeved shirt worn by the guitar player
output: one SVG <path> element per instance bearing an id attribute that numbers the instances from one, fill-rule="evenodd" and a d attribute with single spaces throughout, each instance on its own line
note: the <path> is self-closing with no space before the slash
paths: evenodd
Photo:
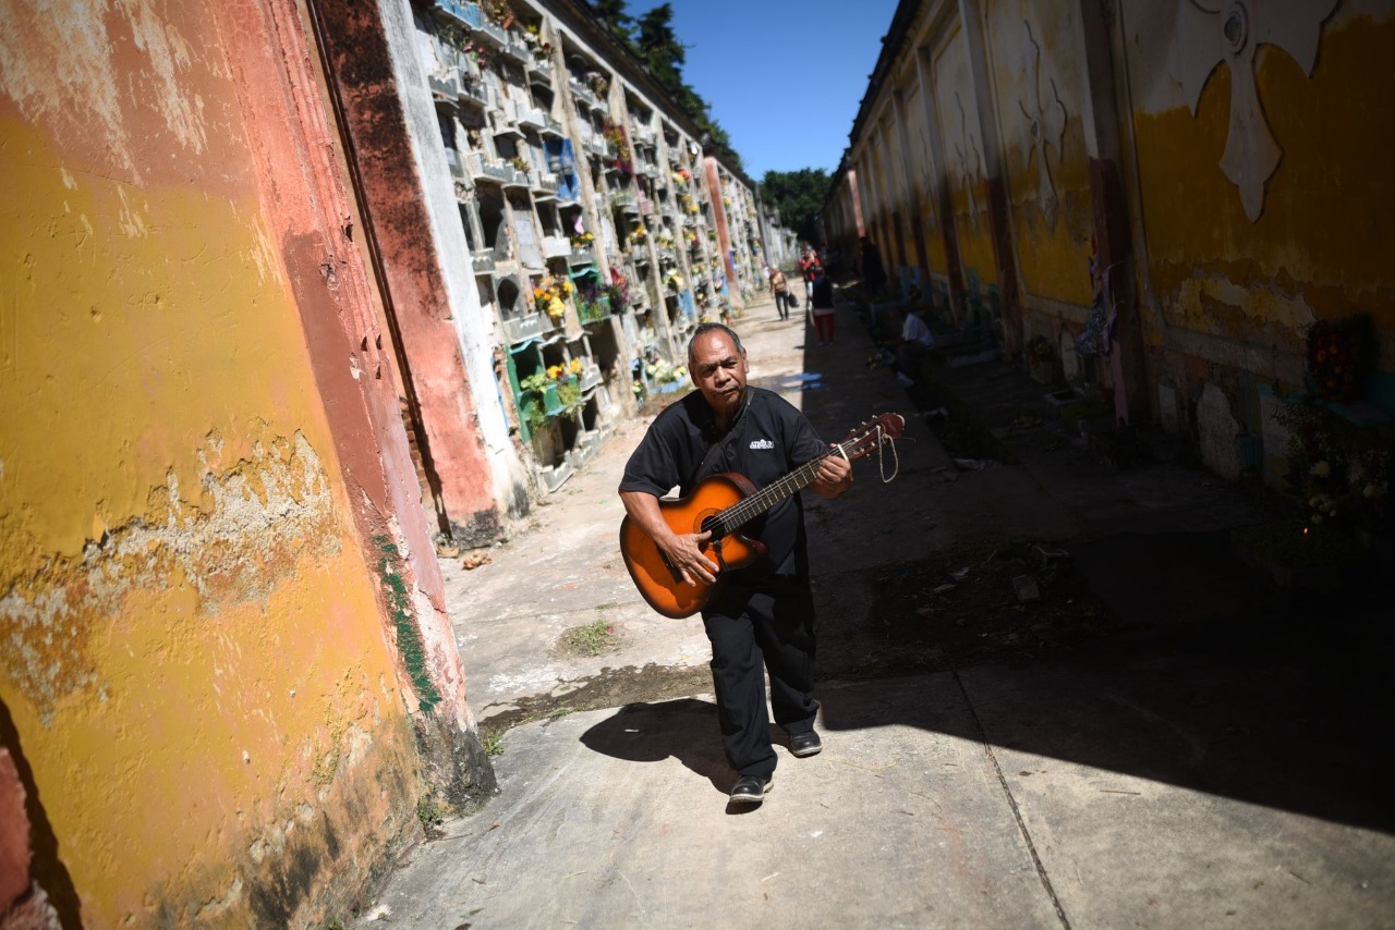
<path id="1" fill-rule="evenodd" d="M 721 455 L 698 474 L 698 466 L 714 442 L 723 443 Z M 661 498 L 677 485 L 679 496 L 688 496 L 699 481 L 721 471 L 735 471 L 756 488 L 764 488 L 827 448 L 809 420 L 771 390 L 748 385 L 746 403 L 725 435 L 718 432 L 702 392 L 693 390 L 654 418 L 629 456 L 619 489 Z M 741 533 L 760 540 L 769 549 L 764 563 L 745 572 L 805 573 L 804 502 L 798 494 L 748 523 Z"/>

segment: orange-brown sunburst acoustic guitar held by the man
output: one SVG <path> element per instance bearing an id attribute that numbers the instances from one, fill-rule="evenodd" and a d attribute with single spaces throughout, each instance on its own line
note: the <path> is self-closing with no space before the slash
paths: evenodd
<path id="1" fill-rule="evenodd" d="M 713 584 L 700 579 L 688 584 L 649 534 L 626 514 L 619 524 L 619 551 L 629 577 L 649 605 L 664 616 L 692 616 L 711 601 L 728 572 L 744 569 L 766 554 L 762 542 L 739 533 L 741 527 L 813 482 L 819 463 L 826 457 L 861 459 L 882 443 L 900 439 L 904 428 L 904 417 L 884 413 L 769 487 L 756 488 L 745 475 L 725 471 L 700 481 L 686 498 L 661 499 L 660 513 L 674 533 L 711 533 L 703 544 L 703 554 L 717 563 Z"/>

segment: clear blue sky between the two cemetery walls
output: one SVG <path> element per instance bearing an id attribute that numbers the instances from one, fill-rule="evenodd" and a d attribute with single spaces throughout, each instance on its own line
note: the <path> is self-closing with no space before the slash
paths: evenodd
<path id="1" fill-rule="evenodd" d="M 684 79 L 711 103 L 753 180 L 838 166 L 896 0 L 670 1 L 689 46 Z M 657 6 L 626 8 L 639 17 Z"/>

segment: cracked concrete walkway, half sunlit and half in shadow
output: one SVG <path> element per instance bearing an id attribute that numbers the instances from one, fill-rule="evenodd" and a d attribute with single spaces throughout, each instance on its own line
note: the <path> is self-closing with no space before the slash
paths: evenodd
<path id="1" fill-rule="evenodd" d="M 810 502 L 826 750 L 781 749 L 767 800 L 725 805 L 702 626 L 649 611 L 618 556 L 625 424 L 487 565 L 446 565 L 472 707 L 529 722 L 499 795 L 360 923 L 1391 926 L 1388 611 L 1258 586 L 1225 531 L 1262 513 L 1205 473 L 1014 429 L 1025 375 L 944 372 L 1017 459 L 958 471 L 850 310 L 827 349 L 770 305 L 741 332 L 824 438 L 910 420 L 896 481 L 865 460 Z M 1039 541 L 1066 558 L 1034 565 Z M 600 619 L 614 651 L 557 648 Z"/>

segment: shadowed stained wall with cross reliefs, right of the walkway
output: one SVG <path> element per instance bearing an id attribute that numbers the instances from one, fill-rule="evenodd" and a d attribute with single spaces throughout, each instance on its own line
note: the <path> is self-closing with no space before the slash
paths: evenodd
<path id="1" fill-rule="evenodd" d="M 875 213 L 918 218 L 932 276 L 963 269 L 961 310 L 997 284 L 1010 357 L 1046 339 L 1055 358 L 1039 371 L 1194 435 L 1230 475 L 1239 434 L 1262 432 L 1282 457 L 1275 392 L 1302 389 L 1314 321 L 1373 318 L 1367 400 L 1395 413 L 1395 3 L 1207 6 L 903 3 L 845 167 L 873 194 L 903 167 L 928 174 L 942 230 L 914 191 L 873 197 Z M 918 130 L 891 100 L 917 92 L 928 132 L 887 165 L 873 151 L 887 120 Z M 850 237 L 845 212 L 831 226 Z M 1102 314 L 1095 257 L 1112 275 Z M 1113 350 L 1077 353 L 1109 319 Z"/>

